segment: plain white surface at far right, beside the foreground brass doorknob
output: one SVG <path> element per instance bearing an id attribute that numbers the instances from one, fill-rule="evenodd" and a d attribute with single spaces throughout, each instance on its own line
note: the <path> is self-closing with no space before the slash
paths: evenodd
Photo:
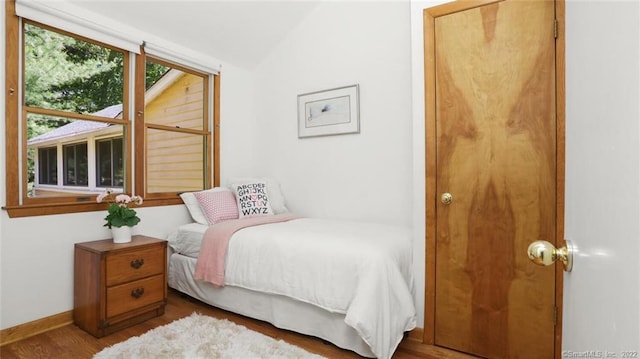
<path id="1" fill-rule="evenodd" d="M 564 351 L 640 350 L 640 2 L 567 1 Z M 603 354 L 605 357 L 606 354 Z"/>

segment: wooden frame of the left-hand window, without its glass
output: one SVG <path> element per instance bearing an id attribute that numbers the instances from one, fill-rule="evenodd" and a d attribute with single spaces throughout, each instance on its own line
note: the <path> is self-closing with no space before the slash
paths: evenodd
<path id="1" fill-rule="evenodd" d="M 95 202 L 97 195 L 69 194 L 55 197 L 29 197 L 27 189 L 27 115 L 40 114 L 54 117 L 63 117 L 72 120 L 88 120 L 98 122 L 108 122 L 123 126 L 124 136 L 131 131 L 131 124 L 128 114 L 129 103 L 129 64 L 131 54 L 128 51 L 115 48 L 108 44 L 101 43 L 83 36 L 69 33 L 46 24 L 41 24 L 28 19 L 20 19 L 15 13 L 15 1 L 6 2 L 6 81 L 8 95 L 6 98 L 5 135 L 6 135 L 6 205 L 3 207 L 9 213 L 9 217 L 26 217 L 45 214 L 85 212 L 102 209 Z M 20 76 L 20 71 L 24 71 L 24 39 L 23 23 L 55 31 L 66 36 L 74 37 L 86 42 L 90 42 L 102 47 L 106 47 L 123 53 L 123 112 L 122 119 L 111 119 L 89 114 L 60 111 L 31 107 L 24 104 L 24 74 Z M 130 153 L 131 141 L 128 140 L 127 152 Z M 59 150 L 62 150 L 59 147 Z M 64 154 L 62 154 L 64 156 Z M 59 157 L 60 158 L 60 155 Z M 129 161 L 130 162 L 130 161 Z M 126 166 L 126 165 L 125 165 Z M 130 166 L 130 163 L 129 163 Z M 129 170 L 130 172 L 130 170 Z M 61 174 L 58 174 L 60 176 Z M 64 174 L 62 174 L 64 175 Z M 60 177 L 59 177 L 60 180 Z M 64 182 L 64 179 L 62 180 Z M 125 180 L 125 188 L 131 188 L 131 180 Z M 84 187 L 78 187 L 84 188 Z"/>

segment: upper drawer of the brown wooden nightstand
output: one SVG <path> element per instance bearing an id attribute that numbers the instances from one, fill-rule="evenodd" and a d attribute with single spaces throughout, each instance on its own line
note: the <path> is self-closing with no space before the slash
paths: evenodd
<path id="1" fill-rule="evenodd" d="M 157 245 L 107 256 L 107 286 L 164 273 L 166 249 Z"/>

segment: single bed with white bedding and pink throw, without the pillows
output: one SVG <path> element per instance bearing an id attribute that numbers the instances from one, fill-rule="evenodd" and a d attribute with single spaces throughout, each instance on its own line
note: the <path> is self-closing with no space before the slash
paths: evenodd
<path id="1" fill-rule="evenodd" d="M 169 286 L 364 357 L 390 358 L 416 326 L 410 232 L 290 213 L 268 217 L 252 225 L 251 218 L 181 225 L 168 237 Z M 244 223 L 217 249 L 223 277 L 209 276 L 203 263 L 220 266 L 212 243 L 237 222 Z"/>

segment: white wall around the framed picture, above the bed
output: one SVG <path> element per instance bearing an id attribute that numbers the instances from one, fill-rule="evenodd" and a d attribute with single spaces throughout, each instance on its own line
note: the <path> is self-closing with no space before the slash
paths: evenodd
<path id="1" fill-rule="evenodd" d="M 255 71 L 256 171 L 306 216 L 411 224 L 408 1 L 321 2 Z M 360 86 L 360 133 L 299 139 L 297 95 Z"/>

